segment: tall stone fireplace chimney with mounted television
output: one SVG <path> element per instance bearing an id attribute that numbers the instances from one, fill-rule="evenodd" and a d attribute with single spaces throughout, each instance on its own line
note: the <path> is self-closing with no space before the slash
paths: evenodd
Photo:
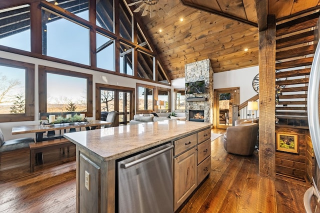
<path id="1" fill-rule="evenodd" d="M 187 94 L 185 92 L 185 114 L 189 117 L 189 110 L 204 110 L 204 122 L 213 123 L 213 69 L 209 59 L 196 61 L 184 65 L 185 83 L 204 80 L 205 92 Z"/>

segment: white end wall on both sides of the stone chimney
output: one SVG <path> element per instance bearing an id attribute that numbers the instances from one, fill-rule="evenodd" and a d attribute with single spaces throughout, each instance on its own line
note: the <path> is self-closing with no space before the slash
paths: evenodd
<path id="1" fill-rule="evenodd" d="M 240 103 L 242 103 L 257 94 L 252 88 L 252 79 L 257 73 L 259 73 L 259 66 L 213 73 L 213 89 L 240 87 Z M 184 78 L 174 79 L 171 85 L 172 88 L 184 88 L 185 80 Z"/>

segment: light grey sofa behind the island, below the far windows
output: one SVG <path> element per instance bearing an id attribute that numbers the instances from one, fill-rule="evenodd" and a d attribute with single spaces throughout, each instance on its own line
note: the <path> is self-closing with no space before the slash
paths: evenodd
<path id="1" fill-rule="evenodd" d="M 150 113 L 150 114 L 135 114 L 133 119 L 129 121 L 129 124 L 137 124 L 144 122 L 153 122 L 167 119 L 179 119 L 185 120 L 184 112 L 177 112 L 177 116 L 169 116 L 170 112 L 162 112 L 162 113 Z M 157 116 L 156 116 L 157 115 Z"/>

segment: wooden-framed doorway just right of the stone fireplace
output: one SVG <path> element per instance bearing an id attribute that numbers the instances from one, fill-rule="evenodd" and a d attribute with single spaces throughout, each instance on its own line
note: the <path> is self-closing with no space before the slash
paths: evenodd
<path id="1" fill-rule="evenodd" d="M 239 104 L 239 92 L 240 87 L 214 89 L 213 116 L 216 128 L 227 128 L 232 125 L 232 105 Z"/>

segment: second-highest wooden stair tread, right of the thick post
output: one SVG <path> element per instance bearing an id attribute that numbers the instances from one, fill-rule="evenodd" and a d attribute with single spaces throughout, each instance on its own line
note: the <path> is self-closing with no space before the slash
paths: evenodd
<path id="1" fill-rule="evenodd" d="M 306 32 L 292 35 L 292 36 L 277 39 L 275 41 L 276 42 L 275 48 L 279 49 L 279 48 L 288 47 L 291 45 L 311 42 L 314 39 L 313 34 L 314 34 L 314 30 L 309 30 Z"/>

